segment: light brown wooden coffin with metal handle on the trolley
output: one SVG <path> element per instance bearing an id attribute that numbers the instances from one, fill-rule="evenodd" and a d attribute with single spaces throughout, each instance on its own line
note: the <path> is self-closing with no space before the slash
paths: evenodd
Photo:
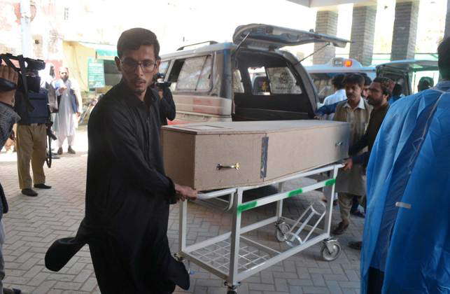
<path id="1" fill-rule="evenodd" d="M 162 127 L 167 176 L 197 190 L 254 186 L 347 157 L 349 124 L 326 120 Z"/>

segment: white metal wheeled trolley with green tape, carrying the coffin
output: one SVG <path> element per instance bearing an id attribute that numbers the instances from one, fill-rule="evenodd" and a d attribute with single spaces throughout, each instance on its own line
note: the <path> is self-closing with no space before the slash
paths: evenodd
<path id="1" fill-rule="evenodd" d="M 323 242 L 321 255 L 325 260 L 335 260 L 341 251 L 341 246 L 336 239 L 330 237 L 332 217 L 332 195 L 335 190 L 335 179 L 340 164 L 328 165 L 308 172 L 300 172 L 283 177 L 276 181 L 267 182 L 260 186 L 227 188 L 215 190 L 209 193 L 199 194 L 200 201 L 215 200 L 225 202 L 225 211 L 231 211 L 232 228 L 230 232 L 217 237 L 200 241 L 199 243 L 186 245 L 188 202 L 180 204 L 180 228 L 179 228 L 179 252 L 176 253 L 178 260 L 194 262 L 212 274 L 225 280 L 227 294 L 237 293 L 239 283 L 244 279 L 266 269 L 277 262 L 281 262 L 300 251 Z M 309 186 L 299 187 L 295 190 L 283 190 L 286 181 L 304 178 L 316 174 L 328 173 L 328 179 L 314 183 Z M 242 195 L 246 190 L 278 184 L 278 193 L 261 197 L 257 200 L 242 202 Z M 283 217 L 283 200 L 296 197 L 312 190 L 323 188 L 326 204 L 320 200 L 312 202 L 303 214 L 296 220 Z M 229 201 L 218 197 L 229 196 Z M 258 221 L 251 225 L 241 227 L 241 214 L 255 207 L 276 202 L 276 215 Z M 323 221 L 322 225 L 319 225 Z M 263 244 L 243 236 L 245 233 L 262 228 L 274 223 L 276 225 L 275 236 L 278 241 L 286 242 L 286 251 L 277 251 Z M 319 228 L 321 227 L 321 228 Z"/>

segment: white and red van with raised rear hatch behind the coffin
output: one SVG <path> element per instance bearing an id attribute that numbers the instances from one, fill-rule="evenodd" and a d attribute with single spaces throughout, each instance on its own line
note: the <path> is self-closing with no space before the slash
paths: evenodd
<path id="1" fill-rule="evenodd" d="M 233 43 L 209 41 L 162 55 L 160 72 L 171 82 L 176 104 L 172 123 L 314 118 L 318 97 L 312 80 L 281 48 L 316 42 L 344 47 L 349 41 L 253 24 L 237 27 Z"/>

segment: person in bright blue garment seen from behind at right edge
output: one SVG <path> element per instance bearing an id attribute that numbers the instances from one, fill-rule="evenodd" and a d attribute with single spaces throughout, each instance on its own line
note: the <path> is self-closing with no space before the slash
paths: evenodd
<path id="1" fill-rule="evenodd" d="M 367 167 L 361 293 L 450 293 L 450 38 L 442 81 L 395 102 Z"/>

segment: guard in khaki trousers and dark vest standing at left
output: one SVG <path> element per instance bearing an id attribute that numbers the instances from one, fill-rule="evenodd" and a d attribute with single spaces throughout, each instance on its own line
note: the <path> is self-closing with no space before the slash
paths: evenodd
<path id="1" fill-rule="evenodd" d="M 37 70 L 27 69 L 27 75 L 37 77 Z M 48 109 L 48 90 L 41 87 L 39 92 L 28 92 L 29 101 L 34 106 L 33 111 L 27 109 L 24 103 L 23 92 L 15 93 L 15 111 L 19 114 L 20 120 L 17 124 L 17 171 L 19 173 L 19 185 L 23 195 L 36 197 L 36 193 L 31 189 L 31 176 L 29 165 L 33 169 L 34 188 L 50 189 L 45 185 L 45 174 L 43 165 L 46 154 L 47 124 L 50 121 L 50 111 Z"/>

